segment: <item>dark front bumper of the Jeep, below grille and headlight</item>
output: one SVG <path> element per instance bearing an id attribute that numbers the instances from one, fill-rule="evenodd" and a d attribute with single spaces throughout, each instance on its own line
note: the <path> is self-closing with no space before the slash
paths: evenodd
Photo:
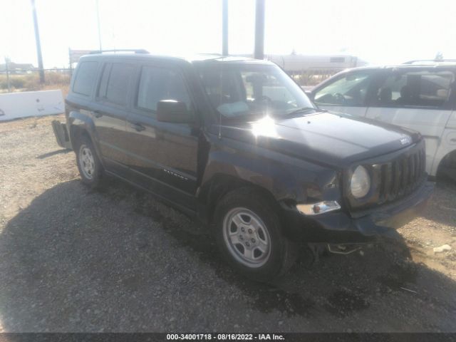
<path id="1" fill-rule="evenodd" d="M 307 242 L 368 242 L 375 237 L 398 237 L 395 229 L 423 213 L 434 190 L 434 183 L 425 182 L 418 190 L 398 202 L 353 213 L 328 212 L 306 216 L 289 215 L 288 233 Z"/>

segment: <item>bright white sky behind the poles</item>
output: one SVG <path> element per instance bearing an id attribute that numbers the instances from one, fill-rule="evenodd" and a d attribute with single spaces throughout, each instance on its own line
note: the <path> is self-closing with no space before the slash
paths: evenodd
<path id="1" fill-rule="evenodd" d="M 264 52 L 347 53 L 372 64 L 456 58 L 455 0 L 265 0 Z M 0 63 L 36 62 L 30 0 L 0 0 Z M 222 0 L 98 0 L 103 49 L 222 51 Z M 254 50 L 255 0 L 229 0 L 229 53 Z M 45 68 L 98 49 L 96 0 L 36 0 Z"/>

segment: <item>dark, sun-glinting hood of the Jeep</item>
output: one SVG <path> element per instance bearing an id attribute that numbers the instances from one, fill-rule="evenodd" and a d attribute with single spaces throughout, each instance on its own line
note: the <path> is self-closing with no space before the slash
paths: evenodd
<path id="1" fill-rule="evenodd" d="M 335 113 L 285 119 L 264 117 L 249 123 L 224 124 L 221 133 L 224 138 L 340 167 L 400 150 L 421 139 L 415 131 Z"/>

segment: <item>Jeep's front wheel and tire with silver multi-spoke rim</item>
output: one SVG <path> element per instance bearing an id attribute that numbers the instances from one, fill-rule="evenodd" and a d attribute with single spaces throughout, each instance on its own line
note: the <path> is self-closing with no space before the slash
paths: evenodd
<path id="1" fill-rule="evenodd" d="M 214 223 L 222 256 L 250 279 L 270 281 L 296 261 L 296 244 L 282 234 L 274 205 L 255 190 L 225 195 L 215 209 Z"/>

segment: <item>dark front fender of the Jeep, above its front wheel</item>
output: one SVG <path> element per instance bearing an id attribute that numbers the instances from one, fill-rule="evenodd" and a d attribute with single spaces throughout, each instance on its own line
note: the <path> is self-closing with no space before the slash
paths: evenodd
<path id="1" fill-rule="evenodd" d="M 218 175 L 267 190 L 277 202 L 340 200 L 336 170 L 256 145 L 223 139 L 209 149 L 202 187 Z"/>

